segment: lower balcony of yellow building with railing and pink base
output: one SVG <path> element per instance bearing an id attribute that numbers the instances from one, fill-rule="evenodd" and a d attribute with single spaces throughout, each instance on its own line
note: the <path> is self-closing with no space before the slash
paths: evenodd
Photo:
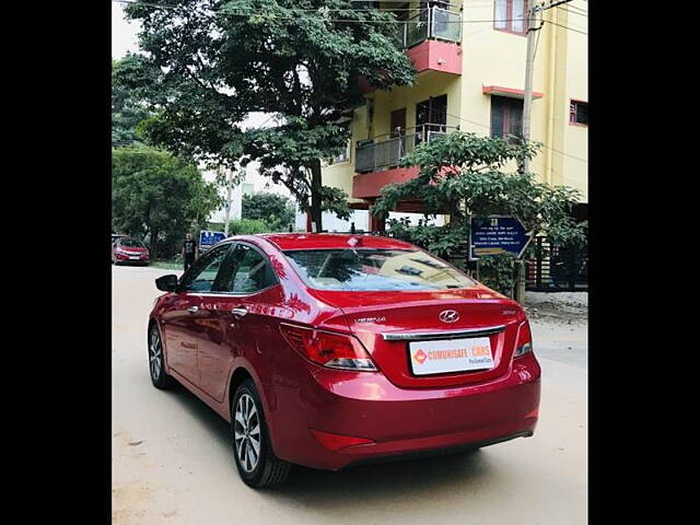
<path id="1" fill-rule="evenodd" d="M 398 167 L 398 161 L 413 151 L 416 145 L 456 128 L 444 124 L 424 124 L 404 130 L 396 137 L 382 136 L 372 142 L 358 143 L 354 156 L 352 197 L 376 198 L 384 186 L 405 183 L 418 175 L 418 167 Z"/>

